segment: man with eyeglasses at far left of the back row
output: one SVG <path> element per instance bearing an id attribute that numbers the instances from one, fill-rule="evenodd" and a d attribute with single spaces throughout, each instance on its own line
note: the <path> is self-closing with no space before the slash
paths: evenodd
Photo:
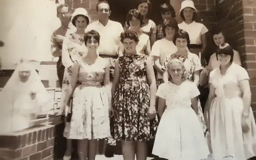
<path id="1" fill-rule="evenodd" d="M 62 43 L 67 34 L 75 32 L 75 26 L 70 22 L 71 13 L 67 4 L 59 4 L 57 6 L 57 17 L 61 22 L 61 26 L 51 35 L 51 54 L 59 57 L 57 62 L 57 75 L 59 86 L 62 88 L 63 75 L 65 67 L 62 64 Z"/>

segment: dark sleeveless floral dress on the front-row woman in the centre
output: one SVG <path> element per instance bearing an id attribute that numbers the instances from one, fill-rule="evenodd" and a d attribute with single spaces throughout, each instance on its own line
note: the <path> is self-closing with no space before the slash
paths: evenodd
<path id="1" fill-rule="evenodd" d="M 147 55 L 119 57 L 120 80 L 114 94 L 114 133 L 116 140 L 154 139 L 158 119 L 150 121 L 150 87 L 146 76 Z"/>

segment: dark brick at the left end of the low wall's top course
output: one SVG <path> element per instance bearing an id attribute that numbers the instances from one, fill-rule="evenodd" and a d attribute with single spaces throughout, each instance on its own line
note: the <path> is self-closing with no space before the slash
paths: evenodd
<path id="1" fill-rule="evenodd" d="M 21 147 L 22 136 L 0 136 L 0 148 L 18 149 Z"/>

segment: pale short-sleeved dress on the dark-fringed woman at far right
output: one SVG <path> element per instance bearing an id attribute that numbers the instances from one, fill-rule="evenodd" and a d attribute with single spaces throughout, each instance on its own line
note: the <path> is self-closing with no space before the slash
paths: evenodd
<path id="1" fill-rule="evenodd" d="M 215 160 L 222 160 L 223 157 L 247 160 L 256 156 L 256 125 L 252 109 L 249 133 L 243 133 L 241 127 L 243 100 L 239 81 L 244 79 L 249 79 L 247 71 L 235 63 L 224 75 L 221 75 L 219 67 L 210 73 L 209 82 L 216 94 L 210 107 L 211 144 Z"/>

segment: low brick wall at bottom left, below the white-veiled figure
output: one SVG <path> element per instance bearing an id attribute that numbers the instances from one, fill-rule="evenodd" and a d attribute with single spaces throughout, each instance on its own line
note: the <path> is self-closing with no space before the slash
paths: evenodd
<path id="1" fill-rule="evenodd" d="M 0 160 L 53 160 L 55 126 L 0 136 Z"/>

